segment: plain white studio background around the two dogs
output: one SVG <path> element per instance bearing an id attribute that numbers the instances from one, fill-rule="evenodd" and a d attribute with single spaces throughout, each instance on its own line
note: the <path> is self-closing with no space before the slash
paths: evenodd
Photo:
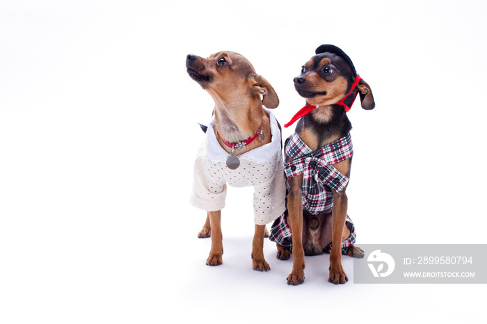
<path id="1" fill-rule="evenodd" d="M 253 271 L 250 188 L 230 188 L 224 264 L 205 266 L 189 195 L 213 102 L 185 68 L 243 54 L 284 124 L 304 105 L 301 65 L 341 47 L 376 99 L 349 113 L 357 244 L 486 243 L 485 15 L 484 1 L 2 1 L 0 322 L 485 323 L 484 285 L 353 284 L 344 257 L 335 286 L 326 254 L 287 286 L 292 261 L 269 241 L 271 271 Z"/>

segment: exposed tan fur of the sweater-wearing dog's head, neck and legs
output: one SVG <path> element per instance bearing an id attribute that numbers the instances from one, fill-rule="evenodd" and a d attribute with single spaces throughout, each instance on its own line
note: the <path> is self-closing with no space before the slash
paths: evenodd
<path id="1" fill-rule="evenodd" d="M 224 66 L 217 64 L 221 58 L 225 59 Z M 266 79 L 255 73 L 253 65 L 244 56 L 232 51 L 221 51 L 206 59 L 188 56 L 186 67 L 189 73 L 197 72 L 209 78 L 209 81 L 202 79 L 197 82 L 214 99 L 215 135 L 223 149 L 228 153 L 232 151 L 223 140 L 239 143 L 253 138 L 259 128 L 265 132 L 265 139 L 256 138 L 243 149 L 235 149 L 237 156 L 271 142 L 270 120 L 262 108 L 262 102 L 267 108 L 276 108 L 279 104 L 278 95 Z M 211 250 L 207 265 L 218 266 L 223 263 L 221 211 L 207 212 L 207 220 L 198 237 L 210 236 Z M 265 236 L 269 236 L 265 225 L 255 225 L 252 244 L 254 270 L 270 270 L 264 259 Z"/>

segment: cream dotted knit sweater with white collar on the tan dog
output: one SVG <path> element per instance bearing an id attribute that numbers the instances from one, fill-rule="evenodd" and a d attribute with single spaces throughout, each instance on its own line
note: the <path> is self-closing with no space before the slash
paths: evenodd
<path id="1" fill-rule="evenodd" d="M 239 155 L 237 170 L 227 167 L 228 154 L 216 140 L 214 120 L 207 129 L 194 165 L 191 204 L 205 211 L 218 211 L 225 206 L 226 184 L 234 187 L 254 187 L 254 222 L 264 225 L 284 213 L 286 181 L 281 152 L 278 122 L 271 111 L 272 141 Z M 258 140 L 258 139 L 256 139 Z"/>

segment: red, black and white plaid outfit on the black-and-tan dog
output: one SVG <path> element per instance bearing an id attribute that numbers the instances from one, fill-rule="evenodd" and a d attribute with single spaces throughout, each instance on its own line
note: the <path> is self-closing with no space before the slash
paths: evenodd
<path id="1" fill-rule="evenodd" d="M 286 140 L 285 156 L 286 161 L 289 161 L 285 163 L 287 178 L 303 173 L 303 209 L 310 211 L 313 215 L 331 213 L 333 208 L 332 189 L 340 193 L 349 183 L 349 178 L 342 175 L 332 164 L 353 156 L 350 133 L 316 151 L 312 151 L 298 134 L 294 133 Z M 289 190 L 289 184 L 287 184 L 287 189 Z M 286 222 L 286 213 L 283 213 L 273 223 L 269 238 L 288 250 L 292 250 L 292 232 Z M 350 236 L 342 241 L 342 254 L 346 254 L 356 240 L 355 227 L 348 215 L 346 216 L 346 226 L 350 229 Z M 324 252 L 330 252 L 330 250 L 331 244 L 324 249 Z"/>

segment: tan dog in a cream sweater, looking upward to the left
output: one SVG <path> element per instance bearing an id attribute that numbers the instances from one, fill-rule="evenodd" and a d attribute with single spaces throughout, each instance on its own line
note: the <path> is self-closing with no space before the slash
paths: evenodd
<path id="1" fill-rule="evenodd" d="M 207 138 L 195 161 L 191 196 L 193 206 L 207 211 L 198 234 L 200 238 L 211 236 L 207 265 L 223 262 L 221 209 L 229 184 L 255 188 L 252 266 L 254 270 L 270 270 L 263 252 L 265 225 L 285 211 L 285 176 L 280 126 L 262 104 L 276 108 L 278 95 L 244 56 L 232 51 L 209 58 L 189 54 L 186 68 L 215 102 Z"/>

